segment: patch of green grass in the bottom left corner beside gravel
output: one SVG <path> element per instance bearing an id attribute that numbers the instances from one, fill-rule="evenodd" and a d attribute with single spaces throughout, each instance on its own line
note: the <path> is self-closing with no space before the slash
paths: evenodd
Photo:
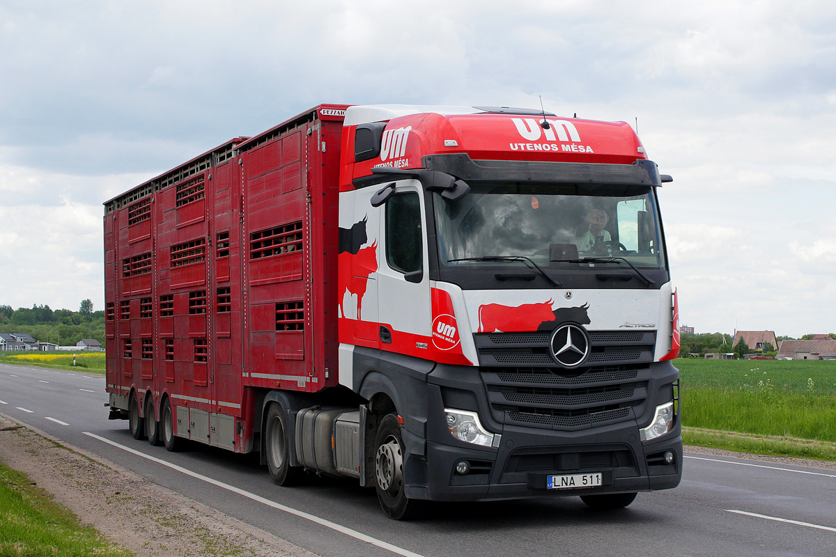
<path id="1" fill-rule="evenodd" d="M 0 463 L 0 555 L 40 557 L 103 555 L 125 557 L 128 550 L 110 543 L 68 509 L 54 502 L 23 473 Z"/>

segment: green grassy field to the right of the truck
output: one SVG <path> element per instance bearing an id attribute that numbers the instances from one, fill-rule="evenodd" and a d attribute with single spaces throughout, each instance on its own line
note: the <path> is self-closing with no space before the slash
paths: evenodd
<path id="1" fill-rule="evenodd" d="M 686 443 L 836 460 L 836 362 L 688 358 L 675 366 Z"/>

